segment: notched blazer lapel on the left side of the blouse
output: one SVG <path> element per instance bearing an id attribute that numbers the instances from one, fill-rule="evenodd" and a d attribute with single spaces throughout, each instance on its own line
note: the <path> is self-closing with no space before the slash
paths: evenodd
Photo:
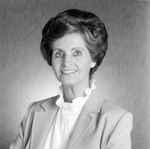
<path id="1" fill-rule="evenodd" d="M 32 126 L 31 149 L 43 148 L 50 127 L 59 109 L 55 105 L 55 102 L 56 100 L 54 99 L 47 100 L 44 104 L 41 105 L 41 109 L 43 108 L 43 110 L 35 113 Z"/>

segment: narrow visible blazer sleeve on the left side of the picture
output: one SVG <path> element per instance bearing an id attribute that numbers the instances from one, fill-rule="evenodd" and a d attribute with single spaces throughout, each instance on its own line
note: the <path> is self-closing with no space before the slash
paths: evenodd
<path id="1" fill-rule="evenodd" d="M 23 118 L 23 121 L 21 122 L 20 126 L 19 126 L 19 134 L 16 138 L 16 140 L 11 144 L 9 149 L 24 149 L 25 145 L 24 145 L 24 130 L 25 130 L 25 126 L 26 126 L 26 120 L 29 116 L 29 113 L 33 107 L 34 103 L 30 104 L 30 106 L 27 109 L 26 115 Z"/>

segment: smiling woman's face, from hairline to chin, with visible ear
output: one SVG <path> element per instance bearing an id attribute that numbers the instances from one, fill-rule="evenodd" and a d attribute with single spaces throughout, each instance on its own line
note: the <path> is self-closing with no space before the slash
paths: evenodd
<path id="1" fill-rule="evenodd" d="M 54 41 L 52 68 L 63 85 L 76 86 L 89 82 L 90 68 L 95 66 L 89 50 L 79 33 L 72 33 Z"/>

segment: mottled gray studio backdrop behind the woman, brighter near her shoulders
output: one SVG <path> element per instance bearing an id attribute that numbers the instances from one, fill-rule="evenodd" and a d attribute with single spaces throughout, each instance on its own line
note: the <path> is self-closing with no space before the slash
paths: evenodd
<path id="1" fill-rule="evenodd" d="M 133 113 L 132 149 L 150 149 L 150 1 L 1 0 L 0 148 L 7 149 L 33 101 L 56 94 L 59 82 L 40 54 L 41 30 L 68 8 L 92 11 L 109 34 L 95 74 L 103 95 Z"/>

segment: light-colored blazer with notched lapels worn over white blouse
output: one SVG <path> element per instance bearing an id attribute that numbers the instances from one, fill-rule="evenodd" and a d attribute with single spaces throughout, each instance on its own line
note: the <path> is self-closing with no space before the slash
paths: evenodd
<path id="1" fill-rule="evenodd" d="M 43 148 L 59 109 L 55 104 L 58 97 L 30 105 L 10 149 Z M 130 149 L 132 122 L 131 113 L 107 101 L 95 89 L 80 113 L 67 149 Z"/>

